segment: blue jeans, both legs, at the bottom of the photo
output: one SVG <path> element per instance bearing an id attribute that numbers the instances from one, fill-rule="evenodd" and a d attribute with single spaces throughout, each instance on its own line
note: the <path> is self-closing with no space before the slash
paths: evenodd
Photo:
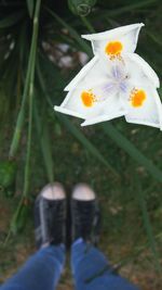
<path id="1" fill-rule="evenodd" d="M 65 263 L 65 247 L 39 250 L 0 290 L 54 290 Z M 104 254 L 82 239 L 71 248 L 71 268 L 77 290 L 137 290 L 114 274 Z"/>

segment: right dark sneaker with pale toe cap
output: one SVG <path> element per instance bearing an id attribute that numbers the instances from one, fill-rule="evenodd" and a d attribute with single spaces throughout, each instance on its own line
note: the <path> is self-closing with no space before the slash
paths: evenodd
<path id="1" fill-rule="evenodd" d="M 100 228 L 95 192 L 85 184 L 75 187 L 71 197 L 71 238 L 97 243 Z"/>

